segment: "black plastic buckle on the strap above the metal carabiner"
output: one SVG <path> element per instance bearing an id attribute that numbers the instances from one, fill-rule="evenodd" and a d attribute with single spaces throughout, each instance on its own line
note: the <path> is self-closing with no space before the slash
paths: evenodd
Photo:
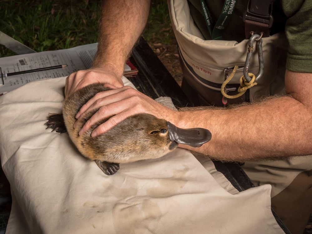
<path id="1" fill-rule="evenodd" d="M 249 0 L 247 11 L 243 16 L 243 21 L 246 19 L 265 23 L 269 25 L 269 28 L 273 24 L 273 2 L 275 0 Z"/>

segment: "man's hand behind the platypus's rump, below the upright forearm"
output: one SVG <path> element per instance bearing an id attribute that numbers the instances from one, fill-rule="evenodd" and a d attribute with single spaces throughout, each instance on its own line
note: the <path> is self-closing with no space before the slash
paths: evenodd
<path id="1" fill-rule="evenodd" d="M 76 90 L 83 88 L 92 83 L 108 83 L 115 87 L 122 87 L 121 80 L 122 73 L 116 72 L 113 67 L 109 65 L 105 67 L 93 67 L 88 70 L 82 70 L 72 73 L 66 78 L 65 97 L 68 97 Z"/>

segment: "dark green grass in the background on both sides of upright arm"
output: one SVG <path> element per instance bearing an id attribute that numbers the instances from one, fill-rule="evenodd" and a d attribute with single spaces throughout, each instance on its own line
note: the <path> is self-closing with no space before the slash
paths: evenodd
<path id="1" fill-rule="evenodd" d="M 100 0 L 0 0 L 1 31 L 33 50 L 66 49 L 94 43 L 98 37 Z M 147 41 L 170 44 L 174 38 L 166 1 L 152 1 Z M 0 56 L 14 53 L 0 47 Z"/>

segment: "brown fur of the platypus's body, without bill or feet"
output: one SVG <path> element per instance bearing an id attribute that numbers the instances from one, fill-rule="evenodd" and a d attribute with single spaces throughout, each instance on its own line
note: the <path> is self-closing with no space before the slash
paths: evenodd
<path id="1" fill-rule="evenodd" d="M 79 136 L 78 132 L 85 122 L 98 110 L 92 110 L 73 128 L 75 116 L 80 108 L 96 93 L 109 90 L 103 84 L 88 85 L 65 99 L 63 117 L 68 134 L 77 149 L 91 160 L 113 163 L 131 162 L 148 158 L 159 158 L 169 151 L 172 143 L 169 139 L 167 121 L 153 115 L 139 114 L 130 116 L 109 131 L 97 137 L 91 132 L 107 119 L 94 124 Z M 151 134 L 152 131 L 166 129 L 166 133 Z"/>

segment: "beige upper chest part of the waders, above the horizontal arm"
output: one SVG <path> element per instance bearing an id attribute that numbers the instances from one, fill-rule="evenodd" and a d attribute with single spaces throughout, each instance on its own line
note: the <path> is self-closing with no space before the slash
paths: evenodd
<path id="1" fill-rule="evenodd" d="M 222 105 L 221 85 L 224 69 L 244 66 L 248 40 L 237 41 L 205 40 L 190 15 L 186 0 L 168 0 L 173 31 L 178 41 L 184 78 L 211 105 Z M 285 94 L 285 63 L 288 41 L 285 33 L 262 38 L 264 73 L 240 98 L 228 99 L 228 103 L 253 101 L 262 96 Z M 259 70 L 256 43 L 251 57 L 249 72 L 257 75 Z M 231 74 L 231 71 L 228 75 Z M 227 88 L 228 95 L 237 94 L 243 67 L 236 71 Z"/>

